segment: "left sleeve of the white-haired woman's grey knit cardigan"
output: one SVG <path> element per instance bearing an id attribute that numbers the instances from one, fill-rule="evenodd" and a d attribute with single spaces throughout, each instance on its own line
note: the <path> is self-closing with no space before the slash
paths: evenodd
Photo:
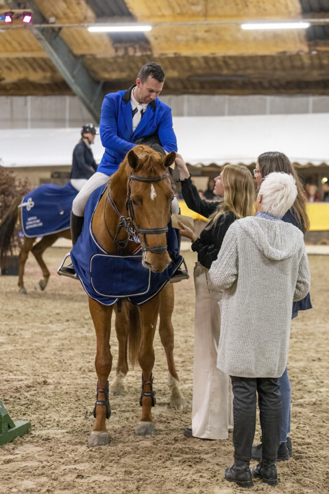
<path id="1" fill-rule="evenodd" d="M 219 255 L 209 270 L 212 283 L 223 290 L 232 287 L 238 277 L 237 228 L 236 222 L 228 228 Z"/>

